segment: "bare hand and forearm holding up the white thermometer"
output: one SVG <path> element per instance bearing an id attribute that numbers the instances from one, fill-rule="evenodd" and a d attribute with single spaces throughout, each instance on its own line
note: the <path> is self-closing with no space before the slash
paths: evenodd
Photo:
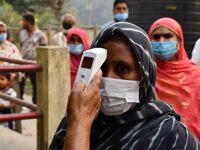
<path id="1" fill-rule="evenodd" d="M 90 130 L 100 108 L 99 86 L 102 72 L 86 87 L 77 82 L 69 96 L 67 106 L 67 133 L 63 150 L 89 150 Z"/>

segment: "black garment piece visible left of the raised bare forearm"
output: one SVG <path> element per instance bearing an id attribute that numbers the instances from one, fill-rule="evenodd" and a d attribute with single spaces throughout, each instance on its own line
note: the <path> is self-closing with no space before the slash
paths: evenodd
<path id="1" fill-rule="evenodd" d="M 62 150 L 64 146 L 64 139 L 66 134 L 66 127 L 67 127 L 67 118 L 64 117 L 61 121 L 56 133 L 53 137 L 53 140 L 49 146 L 49 150 Z"/>

